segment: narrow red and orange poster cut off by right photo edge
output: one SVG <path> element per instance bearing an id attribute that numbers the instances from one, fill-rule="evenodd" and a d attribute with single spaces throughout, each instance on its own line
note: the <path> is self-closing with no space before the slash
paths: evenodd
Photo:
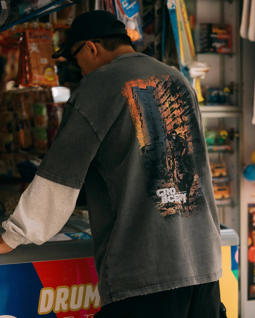
<path id="1" fill-rule="evenodd" d="M 255 204 L 248 204 L 248 300 L 255 299 Z"/>

